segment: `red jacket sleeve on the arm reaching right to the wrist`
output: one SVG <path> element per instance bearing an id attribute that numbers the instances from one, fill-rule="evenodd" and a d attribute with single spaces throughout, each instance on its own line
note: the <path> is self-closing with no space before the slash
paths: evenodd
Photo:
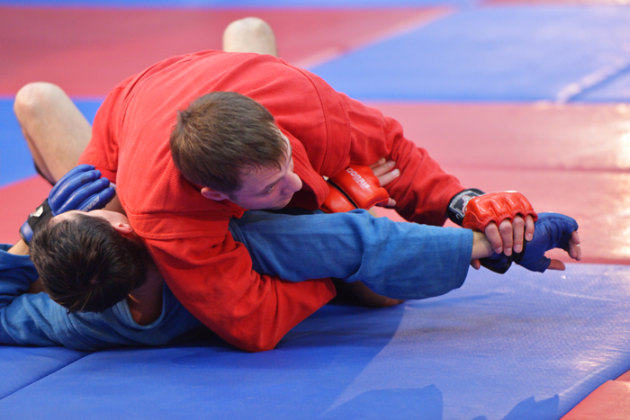
<path id="1" fill-rule="evenodd" d="M 391 158 L 401 176 L 385 188 L 396 200 L 396 210 L 410 221 L 443 225 L 448 201 L 464 190 L 455 176 L 446 174 L 427 150 L 406 139 L 398 121 L 338 93 L 319 76 L 292 68 L 295 73 L 287 73 L 282 83 L 291 82 L 286 91 L 300 92 L 300 100 L 285 94 L 264 104 L 281 129 L 302 142 L 314 171 L 330 177 L 350 162 L 372 165 L 381 157 Z M 302 170 L 304 174 L 308 171 Z M 312 186 L 311 178 L 303 180 Z M 323 201 L 321 194 L 319 198 Z"/>

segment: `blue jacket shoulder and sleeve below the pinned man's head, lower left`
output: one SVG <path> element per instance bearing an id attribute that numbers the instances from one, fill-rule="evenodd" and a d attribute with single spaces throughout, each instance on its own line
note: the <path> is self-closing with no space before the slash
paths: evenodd
<path id="1" fill-rule="evenodd" d="M 126 301 L 102 313 L 68 314 L 46 293 L 24 293 L 37 280 L 28 255 L 0 246 L 0 343 L 64 345 L 94 351 L 121 345 L 165 345 L 200 326 L 165 285 L 162 314 L 148 326 L 133 321 Z"/>

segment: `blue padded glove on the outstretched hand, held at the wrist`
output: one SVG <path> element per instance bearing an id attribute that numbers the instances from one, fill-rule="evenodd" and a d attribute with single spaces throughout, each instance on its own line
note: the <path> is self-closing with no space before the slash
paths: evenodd
<path id="1" fill-rule="evenodd" d="M 523 244 L 523 252 L 506 256 L 495 254 L 482 258 L 482 265 L 495 273 L 505 273 L 512 262 L 522 265 L 531 272 L 544 273 L 551 264 L 545 252 L 554 248 L 569 250 L 569 240 L 578 230 L 578 222 L 560 213 L 539 213 L 536 220 L 534 237 Z"/>

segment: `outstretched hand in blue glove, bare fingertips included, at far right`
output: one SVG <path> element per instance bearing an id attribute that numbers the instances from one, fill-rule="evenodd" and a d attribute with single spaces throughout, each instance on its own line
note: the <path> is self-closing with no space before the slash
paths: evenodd
<path id="1" fill-rule="evenodd" d="M 563 214 L 540 213 L 534 237 L 527 243 L 522 254 L 514 255 L 514 262 L 532 272 L 543 273 L 546 269 L 564 270 L 562 261 L 545 257 L 545 252 L 554 248 L 565 250 L 576 261 L 581 260 L 578 223 Z"/>

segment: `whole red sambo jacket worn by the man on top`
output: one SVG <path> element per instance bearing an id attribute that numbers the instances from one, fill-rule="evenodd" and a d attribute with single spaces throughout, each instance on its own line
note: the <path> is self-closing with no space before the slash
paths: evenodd
<path id="1" fill-rule="evenodd" d="M 464 189 L 403 137 L 397 121 L 272 56 L 202 51 L 126 79 L 97 112 L 80 163 L 95 165 L 117 184 L 132 228 L 177 299 L 242 349 L 273 348 L 335 289 L 329 279 L 293 283 L 253 272 L 247 249 L 228 230 L 229 219 L 244 209 L 203 198 L 178 173 L 168 141 L 176 110 L 213 91 L 244 94 L 274 115 L 303 182 L 293 206 L 319 208 L 328 193 L 322 175 L 382 156 L 401 169 L 387 190 L 406 219 L 443 224 L 448 200 Z"/>

